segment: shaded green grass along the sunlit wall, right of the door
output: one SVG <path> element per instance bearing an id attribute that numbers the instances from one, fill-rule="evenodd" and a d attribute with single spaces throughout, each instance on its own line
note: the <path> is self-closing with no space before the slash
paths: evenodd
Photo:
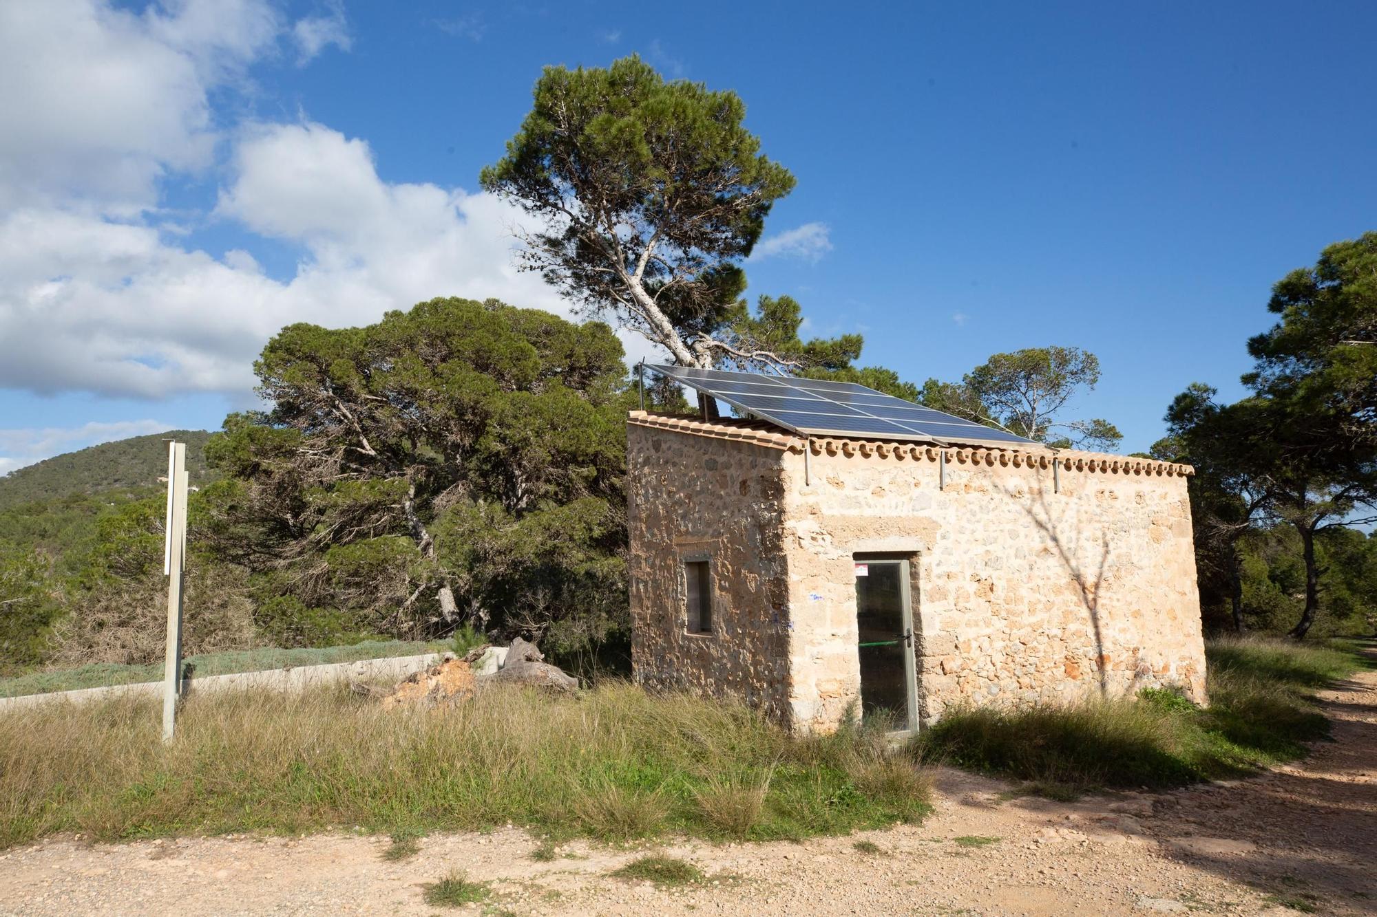
<path id="1" fill-rule="evenodd" d="M 1329 724 L 1314 691 L 1370 662 L 1341 644 L 1265 637 L 1206 646 L 1210 705 L 1177 693 L 1086 699 L 1020 710 L 949 713 L 918 739 L 921 753 L 1030 781 L 1029 792 L 1168 788 L 1241 777 L 1304 756 Z"/>

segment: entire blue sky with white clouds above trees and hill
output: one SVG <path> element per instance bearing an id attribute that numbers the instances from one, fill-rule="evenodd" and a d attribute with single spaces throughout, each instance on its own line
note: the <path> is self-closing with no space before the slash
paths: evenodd
<path id="1" fill-rule="evenodd" d="M 799 179 L 748 266 L 923 381 L 1100 357 L 1146 449 L 1241 394 L 1271 284 L 1374 227 L 1367 3 L 270 3 L 0 8 L 0 472 L 216 428 L 292 321 L 562 310 L 479 193 L 548 63 L 733 88 Z"/>

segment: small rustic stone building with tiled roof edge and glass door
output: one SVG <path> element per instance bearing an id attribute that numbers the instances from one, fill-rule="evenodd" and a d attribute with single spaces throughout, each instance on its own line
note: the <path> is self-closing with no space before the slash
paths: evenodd
<path id="1" fill-rule="evenodd" d="M 1187 465 L 632 412 L 632 662 L 792 728 L 1170 686 L 1202 701 Z"/>

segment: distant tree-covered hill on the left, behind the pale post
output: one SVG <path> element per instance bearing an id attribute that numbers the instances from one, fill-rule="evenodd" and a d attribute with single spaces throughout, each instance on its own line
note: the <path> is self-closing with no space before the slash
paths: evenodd
<path id="1" fill-rule="evenodd" d="M 0 478 L 0 509 L 73 493 L 156 486 L 158 476 L 168 472 L 164 442 L 168 438 L 186 443 L 186 468 L 193 486 L 213 479 L 205 467 L 205 442 L 211 434 L 205 430 L 171 430 L 69 452 L 11 471 Z"/>

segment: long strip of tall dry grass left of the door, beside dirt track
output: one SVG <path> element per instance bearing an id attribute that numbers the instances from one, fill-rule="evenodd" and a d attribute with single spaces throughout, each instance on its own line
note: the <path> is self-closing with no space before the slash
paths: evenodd
<path id="1" fill-rule="evenodd" d="M 748 799 L 722 803 L 737 790 Z M 0 847 L 59 832 L 401 836 L 508 822 L 555 844 L 782 840 L 916 821 L 927 793 L 912 750 L 883 732 L 793 737 L 741 704 L 625 683 L 398 712 L 346 687 L 193 694 L 171 745 L 153 698 L 0 713 Z"/>

